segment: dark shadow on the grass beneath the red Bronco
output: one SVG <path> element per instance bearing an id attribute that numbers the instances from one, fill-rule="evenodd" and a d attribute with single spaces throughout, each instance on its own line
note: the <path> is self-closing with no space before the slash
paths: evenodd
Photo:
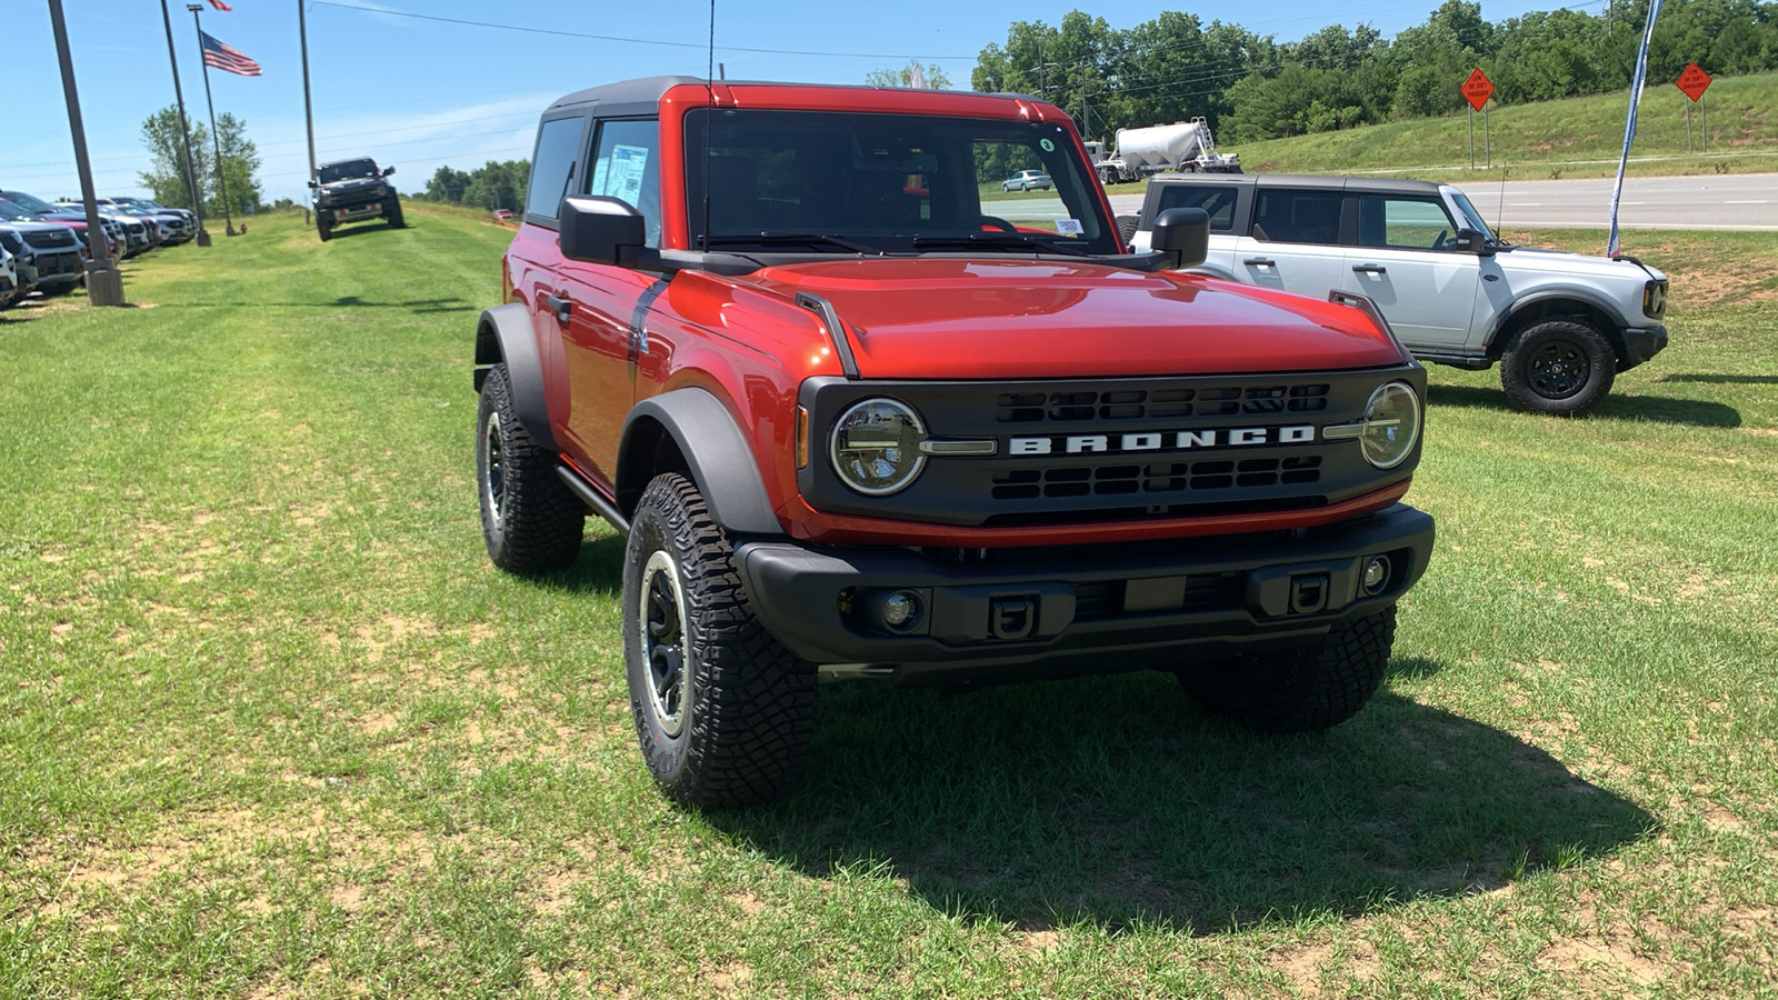
<path id="1" fill-rule="evenodd" d="M 825 687 L 802 790 L 711 822 L 813 877 L 887 868 L 971 920 L 1193 934 L 1485 893 L 1655 829 L 1542 749 L 1387 690 L 1328 733 L 1261 737 L 1159 673 Z"/>

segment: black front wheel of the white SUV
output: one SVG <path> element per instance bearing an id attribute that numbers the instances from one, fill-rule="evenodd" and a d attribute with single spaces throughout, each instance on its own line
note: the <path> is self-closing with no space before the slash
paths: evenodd
<path id="1" fill-rule="evenodd" d="M 1518 406 L 1579 416 L 1611 391 L 1618 358 L 1586 317 L 1538 320 L 1513 338 L 1501 358 L 1501 388 Z"/>

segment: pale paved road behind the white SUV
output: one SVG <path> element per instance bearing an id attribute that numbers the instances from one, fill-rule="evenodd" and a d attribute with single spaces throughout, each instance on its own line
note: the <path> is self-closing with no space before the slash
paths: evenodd
<path id="1" fill-rule="evenodd" d="M 1611 178 L 1508 180 L 1458 185 L 1490 221 L 1556 230 L 1611 224 Z M 1140 194 L 1115 194 L 1118 214 L 1141 210 Z M 1618 222 L 1630 230 L 1778 231 L 1778 174 L 1625 178 Z"/>

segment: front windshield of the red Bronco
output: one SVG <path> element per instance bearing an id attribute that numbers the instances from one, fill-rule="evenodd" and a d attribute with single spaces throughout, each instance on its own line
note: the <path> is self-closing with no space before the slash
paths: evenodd
<path id="1" fill-rule="evenodd" d="M 1054 123 L 695 110 L 686 148 L 693 249 L 1122 253 Z M 1005 183 L 1021 171 L 1051 187 Z"/>

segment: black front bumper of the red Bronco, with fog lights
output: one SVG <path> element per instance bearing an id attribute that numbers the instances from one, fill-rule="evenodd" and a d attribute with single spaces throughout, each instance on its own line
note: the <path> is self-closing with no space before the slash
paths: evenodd
<path id="1" fill-rule="evenodd" d="M 798 657 L 896 665 L 898 680 L 912 680 L 1019 664 L 1138 669 L 1156 665 L 1131 657 L 1149 649 L 1220 658 L 1314 642 L 1396 603 L 1431 548 L 1431 516 L 1396 504 L 1301 532 L 989 550 L 955 562 L 741 541 L 734 562 L 766 630 Z M 1366 593 L 1373 555 L 1389 557 L 1390 575 Z M 900 632 L 871 614 L 893 593 L 919 605 Z"/>

